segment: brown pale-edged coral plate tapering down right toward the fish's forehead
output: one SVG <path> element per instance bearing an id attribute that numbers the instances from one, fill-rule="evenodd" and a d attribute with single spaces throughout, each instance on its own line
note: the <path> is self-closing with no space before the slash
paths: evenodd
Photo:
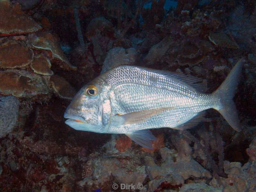
<path id="1" fill-rule="evenodd" d="M 38 35 L 29 35 L 29 44 L 32 48 L 51 51 L 52 57 L 60 61 L 58 62 L 60 68 L 76 70 L 76 67 L 69 63 L 64 52 L 61 50 L 58 37 L 53 36 L 51 33 L 41 32 Z"/>

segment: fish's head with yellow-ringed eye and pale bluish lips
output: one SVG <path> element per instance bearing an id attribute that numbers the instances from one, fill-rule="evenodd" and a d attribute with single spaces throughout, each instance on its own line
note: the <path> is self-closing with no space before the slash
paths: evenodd
<path id="1" fill-rule="evenodd" d="M 76 130 L 102 132 L 102 98 L 98 84 L 82 87 L 64 113 L 67 125 Z"/>

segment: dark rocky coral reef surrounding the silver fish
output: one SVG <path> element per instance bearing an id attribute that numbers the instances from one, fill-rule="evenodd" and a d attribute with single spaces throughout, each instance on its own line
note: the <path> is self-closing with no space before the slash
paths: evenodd
<path id="1" fill-rule="evenodd" d="M 255 8 L 252 0 L 1 0 L 0 191 L 256 191 Z M 210 109 L 186 131 L 152 130 L 150 150 L 64 123 L 75 93 L 110 68 L 193 75 L 211 93 L 241 58 L 241 132 Z"/>

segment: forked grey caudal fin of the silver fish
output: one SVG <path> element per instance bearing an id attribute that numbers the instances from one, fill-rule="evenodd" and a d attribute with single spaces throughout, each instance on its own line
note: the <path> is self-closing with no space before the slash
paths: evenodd
<path id="1" fill-rule="evenodd" d="M 219 95 L 221 98 L 221 106 L 215 109 L 220 112 L 230 126 L 236 131 L 241 131 L 241 128 L 233 97 L 242 71 L 242 65 L 243 59 L 240 59 L 230 71 L 225 81 L 214 92 L 214 94 Z"/>

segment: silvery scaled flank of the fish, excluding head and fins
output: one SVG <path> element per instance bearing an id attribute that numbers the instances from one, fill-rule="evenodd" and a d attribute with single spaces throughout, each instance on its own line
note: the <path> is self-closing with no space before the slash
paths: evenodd
<path id="1" fill-rule="evenodd" d="M 114 114 L 126 114 L 148 108 L 174 109 L 163 111 L 140 124 L 122 125 L 119 133 L 139 130 L 141 127 L 176 127 L 185 119 L 192 118 L 218 102 L 212 95 L 196 92 L 187 84 L 181 84 L 171 77 L 146 71 L 144 68 L 122 67 L 122 70 L 113 70 L 106 77 L 115 95 L 115 99 L 112 99 Z M 116 132 L 115 129 L 115 122 L 112 122 L 108 131 Z"/>

